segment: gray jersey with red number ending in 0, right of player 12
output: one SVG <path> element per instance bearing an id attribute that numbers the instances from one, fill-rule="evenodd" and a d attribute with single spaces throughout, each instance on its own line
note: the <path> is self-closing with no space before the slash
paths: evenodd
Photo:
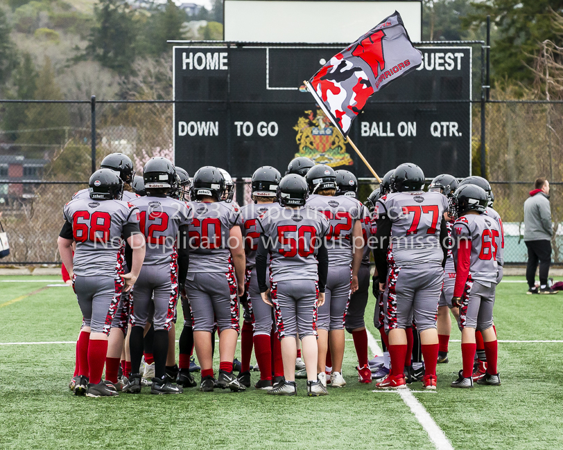
<path id="1" fill-rule="evenodd" d="M 229 233 L 242 226 L 241 210 L 232 203 L 190 201 L 188 273 L 227 273 L 231 264 Z"/>

